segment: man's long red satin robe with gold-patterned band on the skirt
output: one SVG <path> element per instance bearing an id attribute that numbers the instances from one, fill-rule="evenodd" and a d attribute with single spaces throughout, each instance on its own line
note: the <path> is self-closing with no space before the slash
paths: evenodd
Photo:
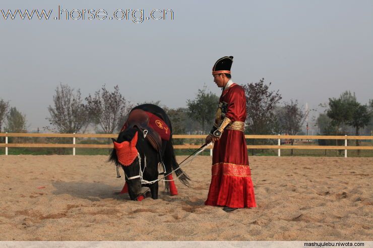
<path id="1" fill-rule="evenodd" d="M 233 84 L 224 90 L 219 102 L 228 103 L 225 117 L 232 122 L 245 121 L 246 98 L 241 86 Z M 221 138 L 215 142 L 212 179 L 205 205 L 231 208 L 257 206 L 242 131 L 225 129 Z"/>

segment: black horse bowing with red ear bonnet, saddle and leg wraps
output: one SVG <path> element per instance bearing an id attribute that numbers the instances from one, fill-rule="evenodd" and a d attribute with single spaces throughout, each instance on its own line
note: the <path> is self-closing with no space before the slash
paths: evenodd
<path id="1" fill-rule="evenodd" d="M 112 140 L 114 148 L 109 160 L 125 172 L 121 193 L 128 192 L 131 200 L 143 199 L 142 186 L 149 187 L 152 198 L 158 199 L 158 175 L 166 176 L 165 186 L 170 195 L 177 195 L 172 172 L 189 186 L 190 178 L 176 162 L 171 122 L 162 108 L 153 104 L 133 108 L 118 138 Z"/>

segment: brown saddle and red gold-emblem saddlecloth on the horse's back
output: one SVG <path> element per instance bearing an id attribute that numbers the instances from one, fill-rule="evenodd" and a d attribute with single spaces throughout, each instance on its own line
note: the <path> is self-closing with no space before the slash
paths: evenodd
<path id="1" fill-rule="evenodd" d="M 138 127 L 143 132 L 144 130 L 148 130 L 145 138 L 157 151 L 162 149 L 162 139 L 169 140 L 170 138 L 170 131 L 167 124 L 158 116 L 141 109 L 131 111 L 121 131 L 133 127 Z"/>

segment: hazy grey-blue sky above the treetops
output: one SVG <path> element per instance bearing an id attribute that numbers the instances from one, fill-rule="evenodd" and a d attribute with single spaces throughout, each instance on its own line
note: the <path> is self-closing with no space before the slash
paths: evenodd
<path id="1" fill-rule="evenodd" d="M 211 68 L 230 55 L 233 81 L 264 77 L 285 101 L 316 108 L 345 90 L 361 103 L 373 98 L 371 0 L 15 2 L 1 0 L 0 10 L 52 10 L 47 21 L 0 13 L 0 98 L 26 114 L 29 130 L 48 124 L 60 82 L 83 97 L 119 85 L 133 103 L 185 107 L 204 83 L 220 94 Z M 53 20 L 58 5 L 104 9 L 108 17 L 116 9 L 145 16 L 171 9 L 174 20 Z"/>

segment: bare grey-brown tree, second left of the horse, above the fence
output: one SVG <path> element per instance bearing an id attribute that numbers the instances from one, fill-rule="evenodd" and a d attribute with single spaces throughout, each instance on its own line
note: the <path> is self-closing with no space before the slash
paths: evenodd
<path id="1" fill-rule="evenodd" d="M 60 84 L 55 90 L 53 104 L 53 107 L 48 107 L 50 117 L 45 119 L 54 127 L 47 129 L 59 133 L 77 133 L 89 121 L 79 89 L 75 93 L 69 85 Z"/>

